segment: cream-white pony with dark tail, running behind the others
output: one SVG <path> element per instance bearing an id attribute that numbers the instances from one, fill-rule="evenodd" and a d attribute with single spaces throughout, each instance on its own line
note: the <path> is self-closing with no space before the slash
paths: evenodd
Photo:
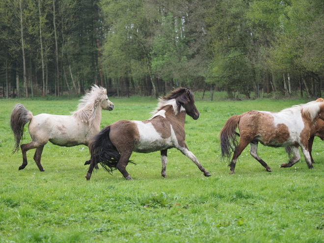
<path id="1" fill-rule="evenodd" d="M 23 139 L 24 126 L 29 122 L 31 141 L 21 145 L 23 163 L 19 170 L 27 165 L 26 152 L 36 148 L 34 161 L 40 171 L 44 145 L 50 141 L 58 146 L 89 145 L 90 139 L 100 132 L 101 109 L 112 110 L 114 105 L 108 100 L 107 90 L 93 85 L 91 91 L 81 98 L 78 110 L 72 115 L 39 114 L 33 116 L 22 104 L 17 104 L 11 113 L 10 126 L 15 136 L 15 149 Z"/>

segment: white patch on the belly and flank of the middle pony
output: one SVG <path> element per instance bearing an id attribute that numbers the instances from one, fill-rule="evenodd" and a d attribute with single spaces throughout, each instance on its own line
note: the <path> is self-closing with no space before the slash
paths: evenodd
<path id="1" fill-rule="evenodd" d="M 136 124 L 140 139 L 135 144 L 134 151 L 138 153 L 151 153 L 173 147 L 175 134 L 171 126 L 171 136 L 162 138 L 155 130 L 152 123 L 143 123 L 141 121 L 132 121 Z M 175 138 L 176 139 L 176 138 Z"/>

